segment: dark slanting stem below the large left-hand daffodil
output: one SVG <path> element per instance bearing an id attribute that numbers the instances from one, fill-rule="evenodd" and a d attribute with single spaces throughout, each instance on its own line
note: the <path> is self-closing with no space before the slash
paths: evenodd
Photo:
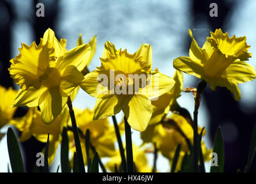
<path id="1" fill-rule="evenodd" d="M 79 133 L 78 133 L 75 113 L 74 113 L 74 110 L 73 110 L 73 107 L 72 107 L 72 101 L 71 101 L 70 97 L 68 97 L 67 104 L 68 104 L 68 108 L 69 108 L 69 115 L 71 116 L 73 135 L 74 135 L 75 145 L 76 145 L 77 160 L 78 160 L 78 164 L 79 164 L 79 172 L 80 173 L 85 173 L 86 170 L 84 168 L 84 159 L 83 159 L 83 154 L 82 154 L 82 151 L 81 151 Z"/>

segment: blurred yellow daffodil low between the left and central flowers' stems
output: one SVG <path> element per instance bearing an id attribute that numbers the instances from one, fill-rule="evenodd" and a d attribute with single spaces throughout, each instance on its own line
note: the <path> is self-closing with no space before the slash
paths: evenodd
<path id="1" fill-rule="evenodd" d="M 95 147 L 99 156 L 109 157 L 116 153 L 114 142 L 116 141 L 116 134 L 114 126 L 109 124 L 107 118 L 101 120 L 93 120 L 94 111 L 90 109 L 78 109 L 74 108 L 77 127 L 81 129 L 83 135 L 86 134 L 87 129 L 90 130 L 90 143 Z M 69 122 L 71 125 L 71 122 Z M 121 126 L 122 127 L 122 126 Z M 124 127 L 124 126 L 123 126 Z M 122 128 L 123 129 L 123 128 Z M 124 132 L 124 131 L 121 131 Z M 81 139 L 81 150 L 83 152 L 84 163 L 87 164 L 86 144 L 84 137 Z M 72 152 L 76 151 L 75 141 L 72 134 L 69 133 L 69 143 Z M 72 154 L 73 155 L 73 154 Z M 90 158 L 92 159 L 94 152 L 90 149 Z"/>

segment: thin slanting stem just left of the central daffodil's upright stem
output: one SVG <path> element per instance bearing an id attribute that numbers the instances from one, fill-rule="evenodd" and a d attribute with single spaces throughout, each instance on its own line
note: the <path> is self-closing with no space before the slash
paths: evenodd
<path id="1" fill-rule="evenodd" d="M 116 131 L 116 136 L 117 136 L 117 143 L 118 143 L 118 147 L 119 147 L 119 151 L 120 151 L 120 155 L 121 155 L 121 166 L 123 167 L 124 173 L 127 172 L 127 166 L 126 166 L 126 160 L 125 160 L 125 155 L 124 155 L 124 147 L 123 147 L 123 143 L 121 140 L 121 136 L 120 136 L 120 132 L 119 132 L 119 128 L 117 125 L 117 120 L 116 120 L 116 116 L 112 116 L 113 122 L 114 122 L 114 130 Z"/>

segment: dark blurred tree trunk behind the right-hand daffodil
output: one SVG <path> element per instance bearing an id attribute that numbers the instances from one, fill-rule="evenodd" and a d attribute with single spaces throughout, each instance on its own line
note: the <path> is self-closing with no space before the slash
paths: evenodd
<path id="1" fill-rule="evenodd" d="M 210 3 L 217 3 L 218 17 L 210 17 Z M 229 14 L 233 12 L 236 1 L 210 1 L 210 0 L 194 0 L 192 10 L 194 14 L 193 25 L 198 25 L 200 22 L 199 16 L 204 16 L 207 23 L 210 25 L 210 30 L 221 28 L 222 32 L 227 32 L 225 21 L 229 18 Z M 242 29 L 242 28 L 241 28 Z M 230 35 L 231 36 L 231 35 Z M 190 42 L 189 42 L 190 44 Z M 189 46 L 189 45 L 187 45 Z M 196 85 L 196 84 L 195 84 Z M 238 130 L 238 135 L 234 141 L 225 141 L 225 137 L 232 135 L 231 129 L 225 129 L 225 172 L 236 172 L 238 168 L 242 171 L 247 162 L 248 149 L 250 144 L 251 131 L 256 120 L 256 111 L 244 113 L 239 108 L 231 94 L 225 87 L 217 87 L 217 91 L 210 89 L 203 91 L 202 101 L 205 101 L 210 114 L 210 137 L 212 142 L 219 125 L 231 123 Z M 200 112 L 199 112 L 200 113 Z M 222 126 L 224 128 L 224 126 Z M 251 171 L 256 171 L 255 161 L 251 166 Z"/>

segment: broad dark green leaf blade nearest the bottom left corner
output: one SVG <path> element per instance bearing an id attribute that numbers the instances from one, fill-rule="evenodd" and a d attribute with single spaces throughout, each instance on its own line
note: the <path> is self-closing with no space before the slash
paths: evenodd
<path id="1" fill-rule="evenodd" d="M 25 168 L 23 159 L 18 145 L 18 140 L 11 127 L 7 131 L 7 145 L 10 158 L 10 166 L 12 167 L 13 173 L 24 173 Z"/>

